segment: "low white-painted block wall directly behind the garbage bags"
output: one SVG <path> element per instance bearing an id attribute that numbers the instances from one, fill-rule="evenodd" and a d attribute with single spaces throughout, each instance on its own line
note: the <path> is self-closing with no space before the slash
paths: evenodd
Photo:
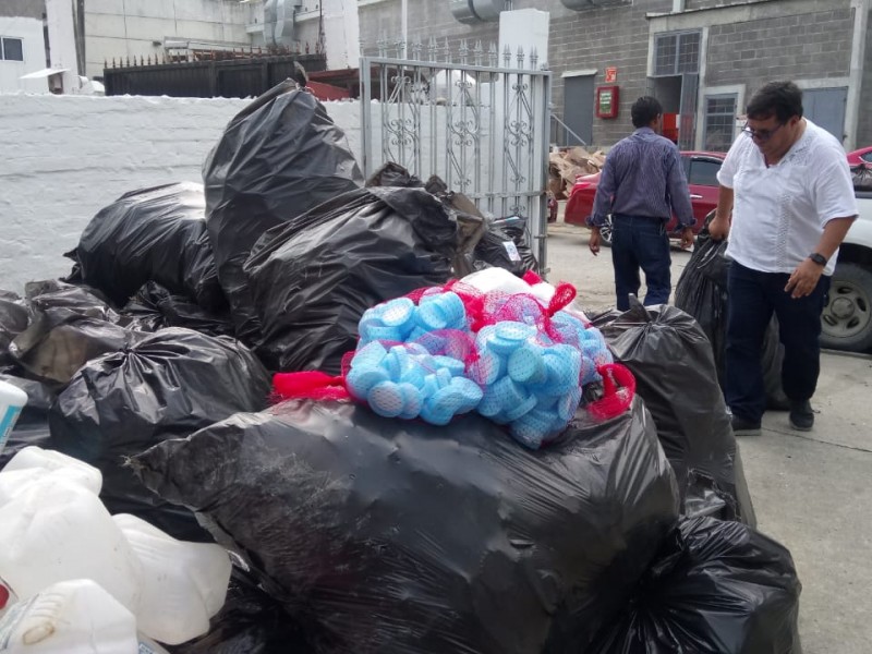
<path id="1" fill-rule="evenodd" d="M 147 186 L 202 181 L 239 99 L 0 95 L 0 289 L 70 271 L 90 218 Z M 360 159 L 360 106 L 328 102 Z"/>

